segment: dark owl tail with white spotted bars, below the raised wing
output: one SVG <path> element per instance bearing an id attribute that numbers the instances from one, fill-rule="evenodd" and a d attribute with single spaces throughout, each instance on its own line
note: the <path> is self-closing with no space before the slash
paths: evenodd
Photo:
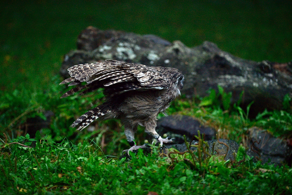
<path id="1" fill-rule="evenodd" d="M 109 103 L 103 103 L 90 111 L 84 113 L 79 118 L 77 118 L 70 127 L 77 127 L 77 130 L 83 130 L 95 119 L 105 119 L 105 118 L 114 118 L 116 114 L 113 113 L 112 108 L 109 106 Z"/>

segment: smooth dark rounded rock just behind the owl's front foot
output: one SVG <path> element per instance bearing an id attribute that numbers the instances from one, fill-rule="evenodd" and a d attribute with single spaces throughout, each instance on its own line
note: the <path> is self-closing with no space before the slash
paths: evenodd
<path id="1" fill-rule="evenodd" d="M 186 135 L 187 141 L 190 142 L 195 135 L 198 135 L 198 130 L 203 134 L 204 140 L 212 140 L 216 138 L 216 131 L 211 127 L 205 127 L 198 120 L 185 115 L 172 115 L 163 117 L 157 121 L 156 131 L 158 134 L 167 134 L 174 138 L 175 144 L 185 142 L 183 135 Z"/>

